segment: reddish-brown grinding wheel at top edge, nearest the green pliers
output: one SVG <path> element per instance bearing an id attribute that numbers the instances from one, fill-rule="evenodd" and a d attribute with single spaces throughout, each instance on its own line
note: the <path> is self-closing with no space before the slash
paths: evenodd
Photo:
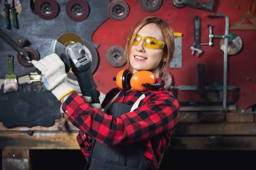
<path id="1" fill-rule="evenodd" d="M 35 13 L 44 20 L 52 20 L 58 15 L 59 6 L 55 0 L 36 0 Z"/>

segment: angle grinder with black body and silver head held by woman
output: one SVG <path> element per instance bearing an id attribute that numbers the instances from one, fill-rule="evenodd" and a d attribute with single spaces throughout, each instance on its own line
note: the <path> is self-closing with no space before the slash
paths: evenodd
<path id="1" fill-rule="evenodd" d="M 91 103 L 100 103 L 89 55 L 85 52 L 81 38 L 74 33 L 61 35 L 57 40 L 52 40 L 51 54 L 57 54 L 65 64 L 66 73 L 72 68 L 76 72 L 76 78 L 83 96 L 91 96 Z M 41 71 L 36 69 L 38 74 Z"/>

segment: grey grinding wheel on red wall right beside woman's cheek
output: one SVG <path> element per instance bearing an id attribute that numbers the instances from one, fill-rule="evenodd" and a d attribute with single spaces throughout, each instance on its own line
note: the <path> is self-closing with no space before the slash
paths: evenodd
<path id="1" fill-rule="evenodd" d="M 125 48 L 122 48 L 121 46 L 118 46 L 118 45 L 114 45 L 108 49 L 106 53 L 106 59 L 111 66 L 119 68 L 125 65 L 126 63 L 126 58 L 124 53 L 125 53 Z"/>

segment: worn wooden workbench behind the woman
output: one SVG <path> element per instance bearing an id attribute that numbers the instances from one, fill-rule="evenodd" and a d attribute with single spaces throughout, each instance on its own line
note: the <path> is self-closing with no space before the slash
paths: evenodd
<path id="1" fill-rule="evenodd" d="M 51 127 L 31 128 L 6 128 L 0 122 L 3 170 L 11 170 L 15 164 L 29 169 L 29 150 L 80 150 L 76 141 L 78 129 L 67 121 L 59 130 L 60 121 L 57 119 Z M 183 109 L 169 150 L 256 150 L 255 135 L 255 113 Z"/>

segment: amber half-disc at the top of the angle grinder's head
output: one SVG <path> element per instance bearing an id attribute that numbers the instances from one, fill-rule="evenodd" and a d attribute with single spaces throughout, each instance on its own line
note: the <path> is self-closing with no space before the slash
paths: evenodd
<path id="1" fill-rule="evenodd" d="M 75 42 L 79 42 L 83 44 L 83 41 L 81 40 L 81 38 L 77 34 L 72 32 L 62 34 L 57 40 L 58 42 L 61 42 L 61 44 L 65 46 Z"/>

